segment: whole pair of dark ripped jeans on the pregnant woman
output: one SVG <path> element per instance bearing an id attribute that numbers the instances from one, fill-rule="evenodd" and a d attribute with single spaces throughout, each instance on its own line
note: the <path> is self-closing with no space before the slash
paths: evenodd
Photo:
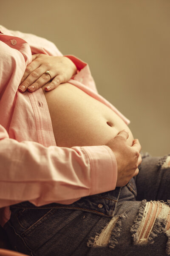
<path id="1" fill-rule="evenodd" d="M 170 156 L 146 154 L 126 186 L 70 205 L 13 205 L 4 229 L 31 256 L 170 255 L 168 199 Z"/>

